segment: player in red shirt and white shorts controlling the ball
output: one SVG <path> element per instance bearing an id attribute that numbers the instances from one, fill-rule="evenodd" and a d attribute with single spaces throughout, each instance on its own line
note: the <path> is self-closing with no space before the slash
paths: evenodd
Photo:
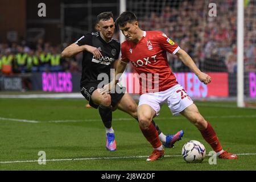
<path id="1" fill-rule="evenodd" d="M 151 143 L 154 151 L 147 161 L 158 160 L 164 156 L 164 149 L 159 140 L 158 133 L 151 121 L 160 111 L 160 106 L 167 103 L 172 114 L 180 113 L 199 129 L 203 138 L 210 144 L 221 159 L 237 159 L 237 155 L 222 150 L 221 143 L 208 121 L 199 113 L 196 105 L 185 90 L 176 81 L 174 73 L 168 65 L 166 52 L 170 52 L 181 59 L 187 67 L 204 84 L 209 84 L 209 75 L 201 72 L 191 57 L 183 51 L 176 43 L 160 31 L 142 31 L 134 13 L 126 11 L 122 13 L 116 23 L 126 41 L 121 45 L 121 60 L 118 61 L 115 75 L 125 71 L 127 63 L 131 62 L 135 71 L 140 75 L 152 73 L 158 75 L 156 80 L 151 80 L 154 88 L 143 90 L 141 84 L 141 97 L 137 109 L 139 126 L 144 137 Z M 120 74 L 119 74 L 120 75 Z M 155 77 L 151 76 L 150 78 Z M 149 77 L 147 77 L 147 81 Z M 102 93 L 109 92 L 117 83 L 118 77 L 101 90 Z"/>

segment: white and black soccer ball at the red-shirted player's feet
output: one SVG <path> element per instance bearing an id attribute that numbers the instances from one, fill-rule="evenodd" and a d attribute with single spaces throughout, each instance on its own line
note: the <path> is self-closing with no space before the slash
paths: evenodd
<path id="1" fill-rule="evenodd" d="M 201 163 L 205 157 L 205 147 L 197 140 L 190 140 L 182 147 L 181 154 L 187 163 Z"/>

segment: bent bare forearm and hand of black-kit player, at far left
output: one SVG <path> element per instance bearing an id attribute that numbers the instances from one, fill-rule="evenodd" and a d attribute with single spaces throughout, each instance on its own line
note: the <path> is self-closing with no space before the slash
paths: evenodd
<path id="1" fill-rule="evenodd" d="M 63 50 L 63 52 L 61 52 L 61 58 L 73 57 L 73 56 L 77 55 L 77 53 L 80 53 L 82 51 L 88 51 L 88 52 L 92 53 L 93 56 L 96 57 L 96 59 L 100 59 L 100 57 L 102 56 L 100 50 L 98 50 L 96 47 L 92 47 L 89 45 L 79 46 L 79 45 L 73 43 L 70 46 L 66 47 Z"/>

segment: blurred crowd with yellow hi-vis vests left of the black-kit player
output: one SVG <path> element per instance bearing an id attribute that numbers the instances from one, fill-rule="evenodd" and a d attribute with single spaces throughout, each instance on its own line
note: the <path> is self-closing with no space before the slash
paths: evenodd
<path id="1" fill-rule="evenodd" d="M 39 39 L 35 44 L 0 44 L 0 70 L 4 74 L 30 72 L 80 72 L 76 59 L 61 59 L 61 46 Z"/>

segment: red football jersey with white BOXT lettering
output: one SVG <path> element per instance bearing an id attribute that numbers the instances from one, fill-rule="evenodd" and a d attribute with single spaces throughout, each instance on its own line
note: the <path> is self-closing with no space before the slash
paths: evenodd
<path id="1" fill-rule="evenodd" d="M 176 43 L 160 31 L 144 31 L 138 43 L 126 40 L 121 44 L 121 61 L 130 61 L 141 77 L 140 94 L 161 92 L 177 84 L 168 64 L 166 51 L 175 54 L 179 49 Z M 146 88 L 142 77 L 147 79 Z"/>

